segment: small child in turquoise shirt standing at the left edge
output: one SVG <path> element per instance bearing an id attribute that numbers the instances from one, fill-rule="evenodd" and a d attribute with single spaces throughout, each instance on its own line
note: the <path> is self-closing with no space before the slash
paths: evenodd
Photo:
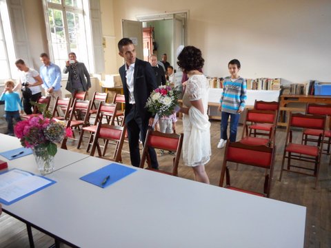
<path id="1" fill-rule="evenodd" d="M 8 124 L 8 135 L 14 136 L 14 125 L 12 119 L 15 121 L 21 121 L 19 116 L 19 109 L 21 109 L 21 114 L 23 114 L 21 98 L 19 93 L 14 92 L 15 83 L 11 80 L 6 81 L 5 89 L 3 90 L 0 101 L 5 101 L 5 112 L 6 112 L 6 121 Z"/>

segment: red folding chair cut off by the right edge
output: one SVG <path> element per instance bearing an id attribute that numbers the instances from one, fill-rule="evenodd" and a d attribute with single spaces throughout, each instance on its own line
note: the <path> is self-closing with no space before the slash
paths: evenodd
<path id="1" fill-rule="evenodd" d="M 330 116 L 331 116 L 331 104 L 317 104 L 317 103 L 308 103 L 305 114 L 316 114 L 327 116 L 327 129 L 325 130 L 324 137 L 326 140 L 323 140 L 323 143 L 328 144 L 328 148 L 323 152 L 323 154 L 330 155 L 330 144 L 331 144 L 331 131 L 330 131 Z M 319 136 L 321 135 L 322 130 L 313 130 L 307 128 L 303 130 L 302 143 L 307 145 L 307 142 L 317 143 L 319 141 Z M 331 160 L 330 160 L 331 161 Z"/>

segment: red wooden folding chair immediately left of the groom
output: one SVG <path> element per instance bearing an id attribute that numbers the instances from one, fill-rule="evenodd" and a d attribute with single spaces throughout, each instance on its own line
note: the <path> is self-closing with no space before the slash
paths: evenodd
<path id="1" fill-rule="evenodd" d="M 105 156 L 107 146 L 103 147 L 103 152 L 101 153 L 99 139 L 114 142 L 114 154 L 110 160 L 115 162 L 121 162 L 121 149 L 123 147 L 124 142 L 124 134 L 126 133 L 126 127 L 109 125 L 107 123 L 101 123 L 97 125 L 97 132 L 94 135 L 92 149 L 90 152 L 90 156 L 94 156 L 95 149 L 97 148 L 99 156 Z"/>

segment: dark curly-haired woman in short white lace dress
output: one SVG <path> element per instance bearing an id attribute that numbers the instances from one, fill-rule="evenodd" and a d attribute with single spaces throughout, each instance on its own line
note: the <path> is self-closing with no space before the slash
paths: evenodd
<path id="1" fill-rule="evenodd" d="M 195 180 L 209 183 L 205 164 L 210 160 L 210 122 L 208 121 L 209 85 L 201 71 L 205 62 L 201 50 L 194 46 L 183 48 L 178 56 L 178 65 L 188 75 L 183 95 L 183 161 L 193 168 Z"/>

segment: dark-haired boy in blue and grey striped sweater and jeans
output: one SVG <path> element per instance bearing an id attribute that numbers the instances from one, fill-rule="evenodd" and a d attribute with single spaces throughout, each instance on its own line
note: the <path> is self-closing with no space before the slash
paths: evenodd
<path id="1" fill-rule="evenodd" d="M 237 127 L 240 113 L 245 108 L 246 81 L 238 74 L 241 65 L 239 60 L 232 59 L 228 63 L 231 76 L 227 76 L 223 83 L 223 93 L 221 94 L 219 111 L 221 111 L 221 140 L 217 148 L 223 148 L 228 140 L 228 120 L 230 117 L 230 142 L 235 142 L 237 138 Z"/>

